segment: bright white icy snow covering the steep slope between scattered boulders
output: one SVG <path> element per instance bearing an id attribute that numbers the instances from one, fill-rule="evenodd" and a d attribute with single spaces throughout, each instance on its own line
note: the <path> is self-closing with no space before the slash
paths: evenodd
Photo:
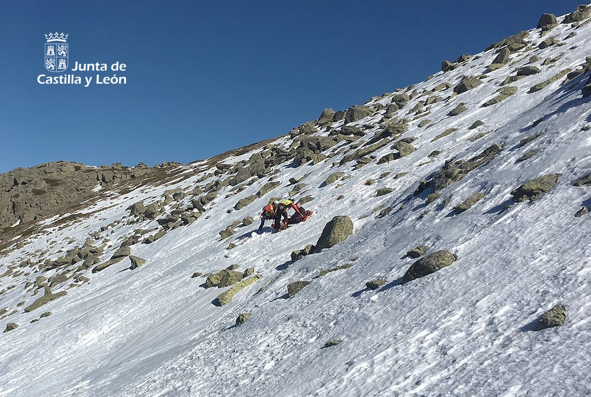
<path id="1" fill-rule="evenodd" d="M 569 81 L 563 73 L 537 92 L 530 89 L 565 69 L 581 69 L 591 56 L 589 20 L 558 24 L 543 35 L 540 29 L 529 31 L 527 47 L 515 50 L 500 69 L 488 71 L 498 53 L 492 48 L 456 69 L 370 100 L 363 106 L 373 108 L 371 114 L 350 123 L 365 134 L 325 149 L 329 157 L 322 161 L 296 166 L 289 159 L 271 165 L 258 180 L 210 184 L 228 180 L 234 164 L 242 168 L 265 148 L 288 151 L 305 137 L 283 135 L 215 161 L 174 168 L 163 181 L 121 194 L 103 191 L 86 209 L 44 220 L 37 232 L 16 236 L 0 253 L 0 310 L 6 308 L 0 327 L 18 324 L 0 334 L 0 396 L 586 395 L 591 391 L 591 215 L 574 215 L 591 206 L 591 186 L 573 183 L 591 172 L 591 102 L 581 92 L 590 72 L 570 75 Z M 540 49 L 551 37 L 559 43 Z M 515 95 L 480 106 L 526 65 L 540 73 L 506 84 L 517 87 Z M 463 76 L 478 76 L 482 84 L 454 95 Z M 391 142 L 365 155 L 362 162 L 368 163 L 362 167 L 355 167 L 354 158 L 342 162 L 392 120 L 384 118 L 384 106 L 401 93 L 411 96 L 410 102 L 391 116 L 407 122 L 407 131 L 387 136 Z M 434 96 L 441 100 L 426 104 Z M 421 101 L 424 106 L 417 106 Z M 460 103 L 467 110 L 449 116 Z M 477 120 L 483 125 L 470 129 Z M 328 136 L 342 125 L 342 120 L 314 124 L 319 131 L 313 135 Z M 434 140 L 450 128 L 457 130 Z M 416 151 L 378 164 L 396 152 L 395 141 L 413 136 Z M 493 144 L 502 145 L 499 154 L 441 189 L 440 197 L 430 196 L 434 200 L 427 203 L 432 190 L 414 194 L 419 181 L 432 180 L 446 160 L 467 160 Z M 429 156 L 436 150 L 440 154 Z M 516 162 L 530 150 L 536 151 L 533 157 Z M 222 163 L 230 168 L 218 170 Z M 336 172 L 342 177 L 324 186 Z M 513 189 L 546 174 L 560 174 L 548 193 L 535 201 L 512 201 Z M 307 184 L 292 196 L 313 196 L 306 208 L 314 216 L 280 233 L 272 233 L 268 222 L 262 235 L 251 234 L 269 199 L 289 196 L 290 178 Z M 232 210 L 269 181 L 280 186 Z M 157 219 L 173 206 L 190 207 L 193 198 L 207 194 L 199 190 L 206 186 L 217 189 L 217 196 L 199 219 L 150 244 L 131 245 L 131 254 L 147 262 L 128 270 L 125 258 L 92 272 L 136 230 L 150 230 L 142 240 L 164 230 Z M 394 191 L 377 196 L 385 187 Z M 130 214 L 132 204 L 162 201 L 164 192 L 175 188 L 182 194 L 165 200 L 165 212 L 155 219 Z M 199 194 L 193 197 L 194 188 Z M 474 193 L 485 196 L 463 213 L 453 210 Z M 315 244 L 337 215 L 353 220 L 353 234 L 291 262 L 291 252 Z M 220 238 L 221 230 L 247 216 L 255 223 L 236 225 L 233 236 Z M 84 269 L 82 262 L 47 262 L 81 248 L 89 237 L 93 246 L 104 248 L 99 263 Z M 228 249 L 230 243 L 236 247 Z M 402 284 L 415 261 L 405 254 L 417 245 L 425 245 L 427 253 L 449 250 L 457 261 Z M 28 262 L 21 267 L 23 261 Z M 262 278 L 220 307 L 215 299 L 229 287 L 204 288 L 204 276 L 191 275 L 235 263 L 239 271 L 252 267 Z M 38 276 L 58 274 L 70 279 L 58 281 L 51 293 L 67 295 L 25 313 L 44 294 L 43 279 L 39 288 L 31 284 Z M 387 283 L 375 291 L 365 288 L 366 281 L 379 278 Z M 287 285 L 294 281 L 311 284 L 288 297 Z M 555 305 L 566 308 L 564 326 L 534 331 L 540 315 Z M 252 315 L 237 327 L 241 313 Z M 330 340 L 340 343 L 324 348 Z"/>

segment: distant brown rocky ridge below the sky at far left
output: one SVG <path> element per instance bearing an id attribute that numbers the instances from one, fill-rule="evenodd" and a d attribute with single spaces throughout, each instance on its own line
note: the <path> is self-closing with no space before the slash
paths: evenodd
<path id="1" fill-rule="evenodd" d="M 0 174 L 0 229 L 21 221 L 28 223 L 82 203 L 105 187 L 151 173 L 147 166 L 121 164 L 87 167 L 77 162 L 48 162 Z"/>

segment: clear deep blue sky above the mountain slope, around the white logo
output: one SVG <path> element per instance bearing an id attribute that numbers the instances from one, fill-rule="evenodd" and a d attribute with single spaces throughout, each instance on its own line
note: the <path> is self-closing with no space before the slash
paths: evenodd
<path id="1" fill-rule="evenodd" d="M 581 2 L 0 1 L 0 173 L 210 157 L 420 82 Z M 43 58 L 56 31 L 70 69 L 120 61 L 125 72 L 101 76 L 127 83 L 38 84 L 56 75 Z"/>

